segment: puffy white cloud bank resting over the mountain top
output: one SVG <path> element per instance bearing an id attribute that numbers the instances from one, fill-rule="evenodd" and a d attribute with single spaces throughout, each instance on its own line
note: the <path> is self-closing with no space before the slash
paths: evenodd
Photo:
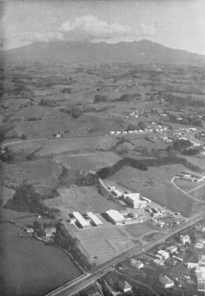
<path id="1" fill-rule="evenodd" d="M 95 39 L 112 39 L 127 37 L 136 37 L 143 35 L 154 35 L 154 25 L 141 23 L 137 28 L 133 29 L 128 25 L 120 23 L 107 23 L 100 21 L 96 16 L 87 15 L 74 18 L 74 21 L 66 21 L 59 28 L 59 32 L 64 33 L 64 38 L 86 38 L 88 40 Z"/>

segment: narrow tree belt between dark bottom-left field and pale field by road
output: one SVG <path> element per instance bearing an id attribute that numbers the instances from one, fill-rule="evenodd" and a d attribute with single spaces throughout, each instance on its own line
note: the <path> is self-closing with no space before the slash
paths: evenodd
<path id="1" fill-rule="evenodd" d="M 56 235 L 54 241 L 55 245 L 66 249 L 66 251 L 68 251 L 81 266 L 88 270 L 92 269 L 92 264 L 90 264 L 85 255 L 83 255 L 79 250 L 78 238 L 73 238 L 61 223 L 57 223 L 56 225 Z"/>

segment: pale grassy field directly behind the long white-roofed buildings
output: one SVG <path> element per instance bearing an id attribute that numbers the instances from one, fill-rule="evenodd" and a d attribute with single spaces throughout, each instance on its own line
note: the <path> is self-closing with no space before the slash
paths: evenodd
<path id="1" fill-rule="evenodd" d="M 74 211 L 85 213 L 91 212 L 105 212 L 107 210 L 122 210 L 117 202 L 110 201 L 102 195 L 99 195 L 94 187 L 79 187 L 79 188 L 60 188 L 59 197 L 47 199 L 44 204 L 49 207 L 58 208 L 67 214 Z"/>

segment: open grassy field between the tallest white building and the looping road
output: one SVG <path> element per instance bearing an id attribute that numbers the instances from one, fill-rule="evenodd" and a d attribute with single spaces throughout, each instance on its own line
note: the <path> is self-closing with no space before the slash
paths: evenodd
<path id="1" fill-rule="evenodd" d="M 111 180 L 116 180 L 152 199 L 156 204 L 166 206 L 187 217 L 196 210 L 196 203 L 172 185 L 172 177 L 180 171 L 185 171 L 185 168 L 179 164 L 150 167 L 148 171 L 124 167 L 115 173 Z"/>

